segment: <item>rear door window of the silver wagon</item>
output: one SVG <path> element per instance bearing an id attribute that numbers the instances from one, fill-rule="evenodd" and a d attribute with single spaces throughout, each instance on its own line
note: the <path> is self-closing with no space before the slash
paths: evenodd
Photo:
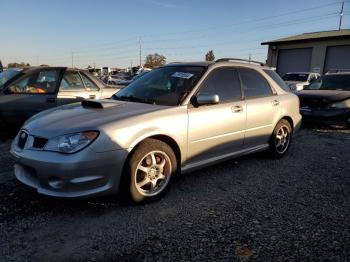
<path id="1" fill-rule="evenodd" d="M 254 69 L 240 68 L 239 74 L 242 80 L 245 98 L 273 95 L 269 83 Z"/>

